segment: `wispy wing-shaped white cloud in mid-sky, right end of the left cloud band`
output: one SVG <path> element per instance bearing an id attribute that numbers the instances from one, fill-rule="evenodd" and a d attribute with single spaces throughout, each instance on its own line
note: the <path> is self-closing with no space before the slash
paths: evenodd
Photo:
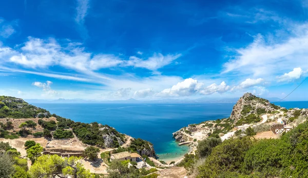
<path id="1" fill-rule="evenodd" d="M 163 66 L 170 64 L 172 61 L 176 60 L 181 56 L 182 54 L 177 54 L 177 55 L 168 54 L 164 56 L 161 53 L 158 53 L 154 54 L 153 56 L 149 57 L 146 60 L 138 58 L 136 56 L 130 56 L 126 65 L 135 66 L 137 68 L 145 68 L 151 71 L 156 71 L 157 69 L 160 69 Z"/>

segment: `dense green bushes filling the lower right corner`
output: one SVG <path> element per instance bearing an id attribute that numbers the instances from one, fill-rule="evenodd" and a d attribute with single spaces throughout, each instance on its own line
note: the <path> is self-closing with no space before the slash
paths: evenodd
<path id="1" fill-rule="evenodd" d="M 240 133 L 222 143 L 201 141 L 196 156 L 186 154 L 179 166 L 197 177 L 308 177 L 308 121 L 276 140 L 251 139 L 250 127 Z"/>

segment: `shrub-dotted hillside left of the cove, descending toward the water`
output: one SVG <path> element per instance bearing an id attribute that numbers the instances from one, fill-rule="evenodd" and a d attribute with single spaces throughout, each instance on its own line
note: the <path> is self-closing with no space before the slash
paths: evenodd
<path id="1" fill-rule="evenodd" d="M 86 145 L 100 148 L 118 148 L 127 142 L 128 136 L 108 125 L 74 122 L 50 114 L 48 110 L 28 104 L 23 99 L 0 96 L 0 138 L 18 139 L 48 138 L 72 139 L 74 135 Z M 5 118 L 5 119 L 4 119 Z M 21 119 L 23 118 L 23 119 Z M 133 139 L 130 150 L 155 156 L 150 142 Z"/>

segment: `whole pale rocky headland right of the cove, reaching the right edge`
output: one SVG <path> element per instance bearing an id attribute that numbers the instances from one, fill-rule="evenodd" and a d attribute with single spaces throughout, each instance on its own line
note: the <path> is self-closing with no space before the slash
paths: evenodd
<path id="1" fill-rule="evenodd" d="M 275 110 L 275 119 L 274 119 Z M 266 115 L 266 123 L 261 125 L 262 116 Z M 294 122 L 299 116 L 308 115 L 308 109 L 285 109 L 274 105 L 268 100 L 256 97 L 251 93 L 244 94 L 234 105 L 229 118 L 217 119 L 215 121 L 205 121 L 199 124 L 190 124 L 172 133 L 172 136 L 179 142 L 197 146 L 197 141 L 207 137 L 222 137 L 226 133 L 241 128 L 245 131 L 248 127 L 264 126 L 269 130 L 268 123 L 281 123 L 285 121 L 290 127 L 298 125 Z M 257 127 L 258 128 L 258 127 Z"/>

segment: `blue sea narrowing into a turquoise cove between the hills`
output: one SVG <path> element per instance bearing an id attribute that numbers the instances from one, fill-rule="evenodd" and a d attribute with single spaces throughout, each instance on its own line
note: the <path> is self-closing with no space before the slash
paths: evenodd
<path id="1" fill-rule="evenodd" d="M 188 124 L 227 118 L 235 103 L 204 104 L 110 104 L 32 103 L 75 122 L 98 122 L 121 133 L 151 142 L 160 160 L 173 161 L 188 152 L 178 146 L 172 133 Z M 308 101 L 279 102 L 286 108 L 308 108 Z"/>

